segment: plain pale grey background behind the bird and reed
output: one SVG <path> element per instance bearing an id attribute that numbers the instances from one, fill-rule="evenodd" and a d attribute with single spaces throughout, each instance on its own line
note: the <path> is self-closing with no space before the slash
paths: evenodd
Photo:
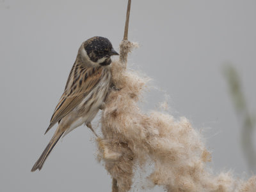
<path id="1" fill-rule="evenodd" d="M 0 0 L 0 191 L 111 191 L 84 126 L 59 142 L 40 172 L 30 170 L 56 128 L 44 136 L 79 46 L 104 36 L 118 50 L 126 6 L 126 0 Z M 204 133 L 214 172 L 232 170 L 237 177 L 251 172 L 222 67 L 236 66 L 255 112 L 255 18 L 253 0 L 132 0 L 131 8 L 129 40 L 140 48 L 129 66 L 163 90 L 148 92 L 144 108 L 156 109 L 166 92 L 170 113 Z"/>

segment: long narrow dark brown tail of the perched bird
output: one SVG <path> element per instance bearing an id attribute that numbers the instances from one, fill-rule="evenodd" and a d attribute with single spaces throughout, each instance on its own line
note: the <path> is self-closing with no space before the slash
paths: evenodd
<path id="1" fill-rule="evenodd" d="M 63 135 L 63 133 L 64 132 L 62 132 L 62 133 L 60 133 L 60 132 L 54 133 L 53 137 L 51 138 L 51 141 L 46 146 L 44 152 L 42 153 L 40 158 L 36 161 L 35 165 L 32 167 L 31 172 L 35 172 L 35 170 L 37 170 L 37 169 L 41 170 L 41 168 L 44 165 L 44 162 L 45 162 L 46 158 L 49 156 L 49 154 L 52 151 L 52 149 L 55 147 L 57 142 L 60 140 L 60 138 Z"/>

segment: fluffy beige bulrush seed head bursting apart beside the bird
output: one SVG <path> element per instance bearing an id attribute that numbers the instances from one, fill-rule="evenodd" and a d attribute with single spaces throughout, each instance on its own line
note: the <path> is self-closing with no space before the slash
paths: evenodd
<path id="1" fill-rule="evenodd" d="M 120 53 L 127 54 L 136 43 L 122 41 Z M 122 60 L 111 64 L 113 89 L 102 112 L 102 138 L 97 140 L 99 159 L 104 161 L 116 191 L 129 191 L 136 165 L 147 170 L 148 179 L 167 191 L 256 191 L 256 177 L 234 179 L 229 172 L 212 174 L 207 168 L 211 154 L 185 117 L 174 119 L 161 112 L 144 114 L 138 107 L 149 78 L 126 70 Z M 113 189 L 114 190 L 114 189 Z"/>

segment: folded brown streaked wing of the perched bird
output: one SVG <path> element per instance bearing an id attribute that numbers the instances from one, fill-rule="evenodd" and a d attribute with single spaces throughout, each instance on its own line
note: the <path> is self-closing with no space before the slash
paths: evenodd
<path id="1" fill-rule="evenodd" d="M 73 68 L 72 68 L 73 70 Z M 75 78 L 68 77 L 63 95 L 52 115 L 51 122 L 45 133 L 70 113 L 92 91 L 102 77 L 102 67 L 83 68 Z M 70 71 L 70 75 L 72 71 Z M 71 82 L 70 82 L 71 81 Z M 70 84 L 70 85 L 68 85 Z"/>

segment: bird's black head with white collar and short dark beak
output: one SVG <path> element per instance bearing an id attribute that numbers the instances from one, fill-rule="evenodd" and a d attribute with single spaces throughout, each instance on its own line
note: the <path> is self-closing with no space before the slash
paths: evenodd
<path id="1" fill-rule="evenodd" d="M 119 55 L 107 38 L 95 36 L 84 41 L 79 49 L 79 54 L 84 63 L 90 65 L 100 64 L 107 66 L 111 63 L 112 55 Z"/>

